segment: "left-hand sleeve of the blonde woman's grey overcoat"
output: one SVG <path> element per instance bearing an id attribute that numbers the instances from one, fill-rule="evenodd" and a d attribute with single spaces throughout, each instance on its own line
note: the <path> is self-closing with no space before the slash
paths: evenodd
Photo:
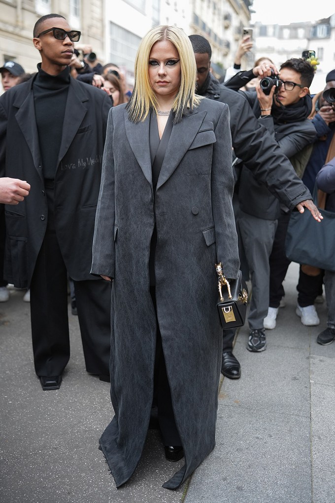
<path id="1" fill-rule="evenodd" d="M 115 175 L 113 155 L 113 108 L 109 111 L 106 142 L 92 246 L 91 274 L 114 278 L 115 270 Z"/>

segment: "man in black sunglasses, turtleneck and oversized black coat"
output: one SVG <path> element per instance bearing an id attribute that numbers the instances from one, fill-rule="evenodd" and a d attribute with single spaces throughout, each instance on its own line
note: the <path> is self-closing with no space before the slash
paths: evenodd
<path id="1" fill-rule="evenodd" d="M 110 285 L 89 272 L 111 103 L 70 77 L 79 38 L 62 16 L 43 16 L 34 28 L 42 58 L 36 76 L 0 97 L 0 177 L 31 185 L 31 197 L 6 211 L 6 277 L 31 287 L 34 363 L 44 390 L 60 387 L 70 356 L 67 274 L 86 370 L 103 380 L 109 374 Z"/>

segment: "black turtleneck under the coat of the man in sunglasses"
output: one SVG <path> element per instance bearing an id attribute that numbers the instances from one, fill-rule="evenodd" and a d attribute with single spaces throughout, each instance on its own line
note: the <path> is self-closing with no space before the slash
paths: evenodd
<path id="1" fill-rule="evenodd" d="M 38 74 L 33 83 L 36 124 L 42 157 L 43 177 L 53 180 L 57 170 L 57 157 L 62 138 L 70 68 L 58 75 L 49 75 L 37 65 Z"/>

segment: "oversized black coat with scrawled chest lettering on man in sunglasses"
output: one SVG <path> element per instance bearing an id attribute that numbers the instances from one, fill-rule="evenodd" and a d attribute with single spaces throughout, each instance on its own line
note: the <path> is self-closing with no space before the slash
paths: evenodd
<path id="1" fill-rule="evenodd" d="M 5 278 L 28 288 L 44 238 L 48 209 L 35 118 L 33 81 L 0 97 L 0 176 L 26 180 L 29 196 L 5 207 Z M 111 102 L 92 86 L 70 80 L 55 175 L 55 226 L 69 275 L 89 274 L 101 161 Z M 50 118 L 52 120 L 52 118 Z"/>

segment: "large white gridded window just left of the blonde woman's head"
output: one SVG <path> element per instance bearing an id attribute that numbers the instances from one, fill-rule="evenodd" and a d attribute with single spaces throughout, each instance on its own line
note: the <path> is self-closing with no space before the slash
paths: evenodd
<path id="1" fill-rule="evenodd" d="M 109 61 L 134 73 L 135 56 L 141 37 L 114 23 L 109 23 Z"/>

